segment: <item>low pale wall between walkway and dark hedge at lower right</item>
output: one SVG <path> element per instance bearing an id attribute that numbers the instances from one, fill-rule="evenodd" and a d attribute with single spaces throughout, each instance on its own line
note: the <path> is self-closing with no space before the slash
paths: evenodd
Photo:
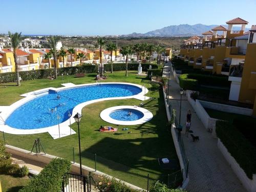
<path id="1" fill-rule="evenodd" d="M 249 179 L 244 170 L 239 166 L 237 161 L 230 155 L 227 151 L 227 148 L 223 145 L 220 139 L 218 139 L 218 148 L 221 151 L 222 155 L 225 157 L 231 168 L 233 169 L 234 173 L 243 183 L 243 186 L 250 192 L 256 191 L 256 175 L 253 174 L 252 180 Z"/>

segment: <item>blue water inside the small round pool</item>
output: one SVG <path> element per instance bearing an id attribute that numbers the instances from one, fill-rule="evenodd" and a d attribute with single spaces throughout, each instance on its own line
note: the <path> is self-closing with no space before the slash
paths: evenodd
<path id="1" fill-rule="evenodd" d="M 129 115 L 129 112 L 132 112 L 131 115 Z M 110 113 L 110 117 L 112 119 L 116 119 L 119 121 L 135 121 L 138 119 L 141 119 L 144 116 L 143 113 L 141 113 L 138 110 L 131 110 L 131 109 L 121 109 L 121 110 L 115 110 Z"/>

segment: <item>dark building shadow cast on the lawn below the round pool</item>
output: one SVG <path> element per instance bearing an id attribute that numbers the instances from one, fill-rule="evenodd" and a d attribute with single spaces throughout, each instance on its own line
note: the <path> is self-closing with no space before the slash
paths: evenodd
<path id="1" fill-rule="evenodd" d="M 154 88 L 158 89 L 158 88 Z M 165 181 L 166 175 L 174 170 L 162 170 L 158 164 L 158 158 L 167 157 L 177 159 L 172 136 L 166 130 L 166 113 L 162 90 L 159 89 L 160 98 L 144 101 L 143 108 L 156 111 L 153 119 L 147 123 L 131 129 L 130 135 L 139 134 L 137 138 L 122 139 L 120 133 L 116 137 L 105 137 L 82 152 L 82 156 L 94 161 L 97 154 L 97 163 L 104 164 L 112 170 L 118 170 L 136 177 L 136 180 L 146 180 L 146 173 L 155 175 L 158 180 Z M 139 131 L 139 132 L 138 132 Z M 133 133 L 134 132 L 134 133 Z M 127 134 L 122 133 L 123 134 Z M 147 137 L 153 134 L 152 137 Z M 155 135 L 155 136 L 154 136 Z M 138 169 L 140 173 L 135 173 Z M 141 173 L 142 172 L 142 173 Z M 145 173 L 145 175 L 141 175 Z M 161 173 L 161 174 L 159 174 Z"/>

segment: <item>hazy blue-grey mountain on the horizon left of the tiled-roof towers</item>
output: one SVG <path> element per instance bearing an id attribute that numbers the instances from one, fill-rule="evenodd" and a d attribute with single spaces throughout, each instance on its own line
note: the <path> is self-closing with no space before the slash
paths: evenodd
<path id="1" fill-rule="evenodd" d="M 154 31 L 150 31 L 147 33 L 131 33 L 128 35 L 129 37 L 170 37 L 170 36 L 193 36 L 193 35 L 202 35 L 203 32 L 209 31 L 217 25 L 171 25 L 168 27 L 164 27 L 162 29 L 157 29 Z M 227 28 L 227 25 L 223 25 Z M 233 27 L 233 30 L 240 30 L 240 27 Z M 249 29 L 246 28 L 246 31 Z"/>

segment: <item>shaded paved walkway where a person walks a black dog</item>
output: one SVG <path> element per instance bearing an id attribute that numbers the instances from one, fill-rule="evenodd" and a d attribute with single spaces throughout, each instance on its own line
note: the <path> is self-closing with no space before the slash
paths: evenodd
<path id="1" fill-rule="evenodd" d="M 170 62 L 165 67 L 165 75 L 167 76 L 170 69 Z M 169 99 L 172 109 L 176 109 L 177 120 L 179 121 L 180 109 L 180 86 L 177 84 L 173 74 L 170 74 L 169 80 Z M 172 100 L 178 99 L 178 100 Z M 217 147 L 217 139 L 214 139 L 210 133 L 205 130 L 204 125 L 198 118 L 193 108 L 186 100 L 186 96 L 182 96 L 181 106 L 181 124 L 183 127 L 186 123 L 187 110 L 192 112 L 191 128 L 195 136 L 200 137 L 200 141 L 193 142 L 191 137 L 186 137 L 185 132 L 182 133 L 182 139 L 185 146 L 187 158 L 189 159 L 189 183 L 187 190 L 190 191 L 246 191 L 242 186 L 233 170 L 224 159 L 223 155 Z M 184 129 L 183 129 L 184 130 Z"/>

